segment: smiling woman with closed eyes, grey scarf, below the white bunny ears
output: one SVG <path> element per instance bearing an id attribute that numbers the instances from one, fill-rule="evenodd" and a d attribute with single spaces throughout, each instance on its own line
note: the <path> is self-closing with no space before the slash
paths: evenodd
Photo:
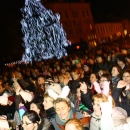
<path id="1" fill-rule="evenodd" d="M 56 130 L 65 130 L 65 123 L 71 118 L 77 118 L 84 126 L 89 125 L 90 117 L 83 117 L 80 112 L 74 113 L 68 98 L 57 98 L 54 101 L 55 118 L 51 121 Z"/>

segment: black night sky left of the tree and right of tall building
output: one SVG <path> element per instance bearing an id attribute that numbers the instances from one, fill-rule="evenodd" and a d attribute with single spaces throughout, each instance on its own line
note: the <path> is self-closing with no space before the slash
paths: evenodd
<path id="1" fill-rule="evenodd" d="M 120 21 L 122 18 L 130 19 L 130 0 L 86 1 L 90 2 L 95 22 Z M 0 0 L 0 57 L 7 55 L 8 58 L 14 57 L 17 59 L 17 56 L 19 57 L 24 51 L 20 24 L 22 18 L 20 8 L 23 6 L 24 0 Z M 17 55 L 19 52 L 20 54 Z"/>

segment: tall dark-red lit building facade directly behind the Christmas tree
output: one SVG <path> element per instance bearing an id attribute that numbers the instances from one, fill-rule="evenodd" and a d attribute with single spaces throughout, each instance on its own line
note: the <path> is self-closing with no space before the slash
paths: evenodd
<path id="1" fill-rule="evenodd" d="M 67 39 L 73 43 L 80 41 L 91 42 L 95 38 L 94 22 L 90 5 L 81 3 L 44 3 L 61 16 L 60 22 L 67 34 Z"/>

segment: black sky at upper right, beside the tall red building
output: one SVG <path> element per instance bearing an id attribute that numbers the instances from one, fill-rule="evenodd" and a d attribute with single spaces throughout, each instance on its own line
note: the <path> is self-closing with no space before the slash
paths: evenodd
<path id="1" fill-rule="evenodd" d="M 98 20 L 102 16 L 106 18 L 117 17 L 117 19 L 130 19 L 130 0 L 89 0 L 91 1 L 91 9 L 95 19 Z M 100 19 L 103 21 L 103 19 Z M 115 18 L 116 20 L 116 18 Z"/>

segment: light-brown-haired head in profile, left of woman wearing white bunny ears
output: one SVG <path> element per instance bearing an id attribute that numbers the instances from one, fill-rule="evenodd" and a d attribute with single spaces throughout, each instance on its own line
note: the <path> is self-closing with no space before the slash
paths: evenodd
<path id="1" fill-rule="evenodd" d="M 48 93 L 45 93 L 44 101 L 43 101 L 44 110 L 48 110 L 49 108 L 52 108 L 54 106 L 53 101 L 54 99 L 50 97 Z"/>

